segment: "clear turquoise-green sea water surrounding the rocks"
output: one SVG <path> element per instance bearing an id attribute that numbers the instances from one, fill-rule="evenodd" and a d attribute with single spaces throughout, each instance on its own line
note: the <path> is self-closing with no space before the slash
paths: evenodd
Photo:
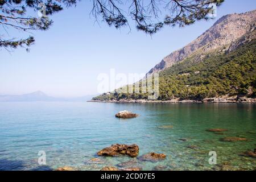
<path id="1" fill-rule="evenodd" d="M 130 110 L 134 119 L 114 114 Z M 0 170 L 52 170 L 71 166 L 100 170 L 131 158 L 98 157 L 97 151 L 115 143 L 138 144 L 139 155 L 161 152 L 161 162 L 139 162 L 143 170 L 255 169 L 256 159 L 240 156 L 256 147 L 256 105 L 253 104 L 108 104 L 82 102 L 1 102 Z M 159 126 L 173 125 L 172 129 Z M 225 135 L 205 131 L 228 129 Z M 221 142 L 223 137 L 246 137 L 246 142 Z M 187 142 L 179 140 L 187 138 Z M 197 146 L 191 149 L 188 146 Z M 38 152 L 46 151 L 46 166 Z M 208 152 L 217 152 L 217 165 Z M 100 158 L 101 162 L 90 159 Z M 137 159 L 133 159 L 136 160 Z M 223 166 L 225 164 L 225 166 Z"/>

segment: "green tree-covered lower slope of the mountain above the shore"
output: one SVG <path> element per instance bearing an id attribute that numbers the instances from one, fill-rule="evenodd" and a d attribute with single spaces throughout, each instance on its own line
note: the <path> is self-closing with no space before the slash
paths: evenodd
<path id="1" fill-rule="evenodd" d="M 203 60 L 190 56 L 159 73 L 158 100 L 202 100 L 229 96 L 256 96 L 256 40 L 230 53 L 216 51 Z M 93 100 L 147 99 L 148 94 L 102 94 Z"/>

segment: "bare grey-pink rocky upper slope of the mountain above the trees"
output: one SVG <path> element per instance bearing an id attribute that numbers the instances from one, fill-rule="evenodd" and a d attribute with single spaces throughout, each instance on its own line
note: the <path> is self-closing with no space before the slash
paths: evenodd
<path id="1" fill-rule="evenodd" d="M 152 68 L 148 73 L 156 73 L 163 69 L 171 67 L 196 51 L 208 53 L 214 49 L 220 48 L 232 43 L 234 40 L 241 38 L 247 32 L 255 27 L 256 10 L 242 14 L 229 14 L 222 16 L 213 24 L 204 34 L 200 35 L 196 40 L 187 46 L 172 52 L 170 55 Z M 204 55 L 200 55 L 202 59 Z"/>

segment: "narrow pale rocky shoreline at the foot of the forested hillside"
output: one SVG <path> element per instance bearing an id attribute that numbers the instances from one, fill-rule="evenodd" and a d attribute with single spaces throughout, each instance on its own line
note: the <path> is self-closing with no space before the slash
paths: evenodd
<path id="1" fill-rule="evenodd" d="M 247 97 L 221 97 L 221 98 L 205 98 L 204 100 L 182 100 L 179 99 L 175 100 L 109 100 L 109 101 L 100 101 L 100 100 L 90 100 L 87 102 L 106 102 L 106 103 L 139 103 L 139 104 L 148 104 L 148 103 L 181 103 L 181 104 L 189 104 L 189 103 L 196 103 L 196 104 L 212 104 L 212 103 L 227 103 L 227 104 L 238 104 L 238 103 L 245 103 L 245 104 L 255 104 L 256 98 L 247 98 Z"/>

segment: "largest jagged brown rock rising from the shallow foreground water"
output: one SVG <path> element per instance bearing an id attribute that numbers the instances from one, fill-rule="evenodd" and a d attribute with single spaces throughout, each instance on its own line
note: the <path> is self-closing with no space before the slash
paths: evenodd
<path id="1" fill-rule="evenodd" d="M 127 144 L 113 144 L 110 147 L 103 148 L 97 154 L 107 156 L 123 154 L 136 157 L 139 154 L 139 146 L 137 146 L 137 144 L 132 144 L 130 146 Z"/>

